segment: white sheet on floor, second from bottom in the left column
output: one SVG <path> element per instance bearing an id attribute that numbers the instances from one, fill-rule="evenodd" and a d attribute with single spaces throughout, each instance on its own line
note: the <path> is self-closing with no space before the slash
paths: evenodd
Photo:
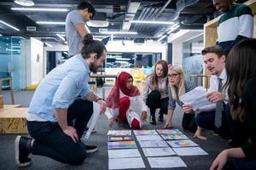
<path id="1" fill-rule="evenodd" d="M 137 149 L 108 150 L 108 158 L 141 157 Z"/>

